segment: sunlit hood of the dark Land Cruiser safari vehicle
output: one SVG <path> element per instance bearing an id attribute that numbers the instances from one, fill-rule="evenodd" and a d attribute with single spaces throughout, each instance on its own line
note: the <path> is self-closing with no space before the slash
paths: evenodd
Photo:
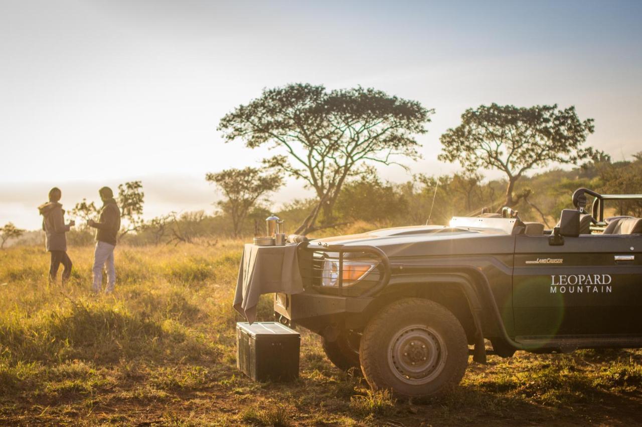
<path id="1" fill-rule="evenodd" d="M 494 229 L 462 230 L 448 226 L 383 228 L 367 233 L 325 237 L 310 244 L 375 246 L 393 256 L 466 255 L 512 253 L 514 235 Z"/>

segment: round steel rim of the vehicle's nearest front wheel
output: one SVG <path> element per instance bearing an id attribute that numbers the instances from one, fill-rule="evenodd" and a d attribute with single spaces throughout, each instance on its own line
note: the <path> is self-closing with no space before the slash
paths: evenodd
<path id="1" fill-rule="evenodd" d="M 446 344 L 433 328 L 406 326 L 388 344 L 388 365 L 404 383 L 423 385 L 435 380 L 446 366 Z"/>

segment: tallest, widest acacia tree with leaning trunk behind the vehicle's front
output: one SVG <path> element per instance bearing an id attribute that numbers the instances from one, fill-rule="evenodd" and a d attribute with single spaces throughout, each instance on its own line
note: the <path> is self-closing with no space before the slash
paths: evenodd
<path id="1" fill-rule="evenodd" d="M 266 89 L 221 119 L 226 142 L 245 140 L 250 148 L 270 144 L 280 154 L 264 160 L 303 180 L 317 203 L 295 233 L 317 230 L 323 213 L 331 224 L 333 207 L 345 180 L 367 172 L 367 165 L 390 165 L 397 156 L 419 158 L 414 135 L 433 110 L 373 88 L 327 92 L 323 86 L 292 84 Z"/>

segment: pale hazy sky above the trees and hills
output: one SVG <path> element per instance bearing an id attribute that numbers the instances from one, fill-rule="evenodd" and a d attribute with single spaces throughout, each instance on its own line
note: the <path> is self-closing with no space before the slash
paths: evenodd
<path id="1" fill-rule="evenodd" d="M 0 226 L 40 224 L 98 188 L 143 180 L 145 216 L 212 212 L 206 172 L 268 153 L 219 119 L 264 87 L 356 85 L 435 108 L 412 172 L 451 172 L 439 136 L 465 108 L 575 105 L 588 144 L 642 151 L 641 1 L 0 0 Z M 384 178 L 410 178 L 399 167 Z M 275 204 L 301 197 L 289 182 Z"/>

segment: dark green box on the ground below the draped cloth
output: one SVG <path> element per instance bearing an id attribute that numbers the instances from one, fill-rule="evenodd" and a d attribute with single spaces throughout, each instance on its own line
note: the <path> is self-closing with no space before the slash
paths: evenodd
<path id="1" fill-rule="evenodd" d="M 236 367 L 255 381 L 299 377 L 301 336 L 277 322 L 236 323 Z"/>

